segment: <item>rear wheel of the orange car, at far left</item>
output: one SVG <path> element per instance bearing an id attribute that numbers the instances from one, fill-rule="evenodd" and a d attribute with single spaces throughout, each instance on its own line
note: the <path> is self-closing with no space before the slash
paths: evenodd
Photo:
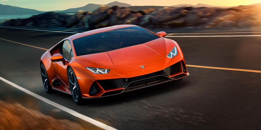
<path id="1" fill-rule="evenodd" d="M 43 63 L 40 64 L 40 69 L 41 69 L 41 77 L 42 77 L 42 81 L 43 81 L 43 86 L 44 86 L 45 92 L 46 93 L 52 93 L 53 89 L 52 89 L 52 86 L 51 86 L 51 84 L 49 82 L 47 71 L 46 71 L 45 66 L 44 66 Z"/>

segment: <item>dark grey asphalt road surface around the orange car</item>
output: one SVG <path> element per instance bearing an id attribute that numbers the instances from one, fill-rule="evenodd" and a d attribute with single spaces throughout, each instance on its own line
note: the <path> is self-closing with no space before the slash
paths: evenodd
<path id="1" fill-rule="evenodd" d="M 47 49 L 70 35 L 0 28 L 2 39 Z M 204 34 L 183 36 L 192 35 Z M 179 43 L 188 65 L 261 70 L 260 36 L 167 38 Z M 45 50 L 1 39 L 0 46 L 1 77 L 116 129 L 261 129 L 261 73 L 188 67 L 190 76 L 181 81 L 76 105 L 70 95 L 45 93 L 39 69 Z M 0 86 L 12 87 L 3 82 Z M 7 100 L 3 95 L 13 91 L 17 90 L 0 91 L 0 99 Z"/>

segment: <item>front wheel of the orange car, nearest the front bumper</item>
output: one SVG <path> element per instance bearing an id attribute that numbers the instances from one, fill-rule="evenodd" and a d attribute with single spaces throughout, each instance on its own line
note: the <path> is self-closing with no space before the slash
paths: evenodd
<path id="1" fill-rule="evenodd" d="M 82 104 L 82 100 L 83 100 L 82 93 L 76 75 L 71 67 L 68 68 L 67 77 L 68 77 L 69 88 L 71 90 L 71 95 L 73 97 L 74 102 L 78 105 Z"/>

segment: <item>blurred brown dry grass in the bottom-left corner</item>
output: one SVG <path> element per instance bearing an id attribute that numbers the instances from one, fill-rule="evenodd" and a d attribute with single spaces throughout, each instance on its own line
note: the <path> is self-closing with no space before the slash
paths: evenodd
<path id="1" fill-rule="evenodd" d="M 83 129 L 81 125 L 69 120 L 55 119 L 41 112 L 27 109 L 19 103 L 10 104 L 0 100 L 0 129 Z"/>

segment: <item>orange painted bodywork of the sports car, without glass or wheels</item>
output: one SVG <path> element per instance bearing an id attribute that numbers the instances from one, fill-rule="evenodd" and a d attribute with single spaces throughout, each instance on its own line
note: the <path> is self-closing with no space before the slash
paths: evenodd
<path id="1" fill-rule="evenodd" d="M 109 52 L 88 54 L 82 56 L 76 55 L 73 46 L 74 39 L 84 37 L 87 35 L 92 35 L 95 33 L 132 26 L 135 25 L 117 25 L 113 27 L 106 27 L 102 29 L 96 29 L 84 33 L 79 33 L 66 38 L 71 42 L 74 55 L 70 61 L 66 59 L 64 59 L 63 61 L 56 62 L 51 61 L 52 55 L 60 53 L 59 48 L 57 47 L 60 42 L 56 44 L 54 47 L 47 50 L 41 57 L 40 62 L 43 62 L 45 65 L 50 84 L 52 84 L 53 81 L 57 78 L 61 82 L 62 86 L 54 88 L 70 94 L 71 92 L 68 86 L 67 78 L 67 69 L 70 66 L 75 72 L 76 77 L 78 77 L 77 80 L 80 86 L 82 97 L 88 98 L 101 97 L 104 93 L 107 92 L 124 90 L 124 87 L 104 90 L 103 87 L 97 82 L 99 80 L 132 78 L 136 76 L 142 76 L 157 71 L 165 70 L 167 67 L 170 67 L 176 63 L 180 63 L 180 72 L 168 75 L 168 77 L 171 78 L 181 74 L 184 74 L 183 77 L 185 77 L 189 74 L 188 71 L 182 70 L 184 69 L 182 63 L 185 64 L 185 59 L 179 45 L 175 41 L 171 39 L 166 39 L 159 35 L 158 39 L 144 44 L 129 46 L 117 50 L 112 50 Z M 156 33 L 154 34 L 157 35 Z M 177 47 L 178 54 L 173 58 L 168 58 L 168 53 L 175 46 Z M 143 65 L 144 68 L 141 68 L 141 66 Z M 108 74 L 94 74 L 91 71 L 89 71 L 86 67 L 104 68 L 111 70 Z M 176 80 L 175 78 L 173 79 Z M 93 83 L 96 83 L 101 91 L 95 95 L 89 95 L 89 91 Z"/>

